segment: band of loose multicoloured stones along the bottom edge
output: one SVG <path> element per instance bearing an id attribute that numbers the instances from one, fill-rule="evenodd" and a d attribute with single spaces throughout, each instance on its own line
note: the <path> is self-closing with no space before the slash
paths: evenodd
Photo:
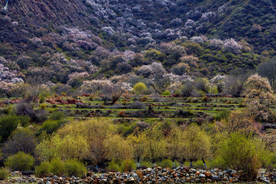
<path id="1" fill-rule="evenodd" d="M 188 167 L 177 167 L 176 169 L 157 167 L 157 183 L 232 183 L 243 182 L 240 178 L 243 171 L 227 170 L 195 170 Z M 120 173 L 109 172 L 103 174 L 88 173 L 86 177 L 59 177 L 52 173 L 48 177 L 36 178 L 34 176 L 24 176 L 20 172 L 12 172 L 8 180 L 2 180 L 0 183 L 35 183 L 38 184 L 79 184 L 79 183 L 156 183 L 155 168 L 147 168 L 132 172 Z M 260 172 L 256 182 L 276 183 L 276 171 Z"/>

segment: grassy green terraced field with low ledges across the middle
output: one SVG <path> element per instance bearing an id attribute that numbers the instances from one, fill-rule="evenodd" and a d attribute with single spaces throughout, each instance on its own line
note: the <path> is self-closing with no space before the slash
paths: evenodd
<path id="1" fill-rule="evenodd" d="M 77 102 L 72 103 L 75 100 Z M 67 103 L 70 102 L 70 103 Z M 123 97 L 113 106 L 100 97 L 59 97 L 44 103 L 51 113 L 63 110 L 71 118 L 111 118 L 148 121 L 156 119 L 182 122 L 212 121 L 228 111 L 243 108 L 242 98 Z"/>

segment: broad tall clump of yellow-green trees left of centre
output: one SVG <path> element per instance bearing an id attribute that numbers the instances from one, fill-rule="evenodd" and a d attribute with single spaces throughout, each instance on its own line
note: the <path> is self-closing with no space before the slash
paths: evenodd
<path id="1" fill-rule="evenodd" d="M 72 121 L 50 137 L 42 139 L 36 147 L 36 153 L 41 160 L 50 162 L 58 157 L 61 159 L 91 158 L 97 163 L 105 158 L 107 147 L 104 146 L 104 141 L 107 138 L 110 141 L 112 139 L 116 141 L 116 136 L 119 136 L 116 132 L 117 129 L 110 120 Z M 117 144 L 119 143 L 117 141 Z"/>

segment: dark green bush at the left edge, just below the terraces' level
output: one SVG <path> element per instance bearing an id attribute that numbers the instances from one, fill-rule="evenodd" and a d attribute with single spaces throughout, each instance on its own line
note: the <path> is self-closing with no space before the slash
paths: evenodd
<path id="1" fill-rule="evenodd" d="M 25 116 L 16 116 L 8 114 L 0 119 L 0 137 L 3 140 L 8 139 L 10 134 L 17 128 L 18 125 L 26 127 L 29 125 L 30 118 Z"/>

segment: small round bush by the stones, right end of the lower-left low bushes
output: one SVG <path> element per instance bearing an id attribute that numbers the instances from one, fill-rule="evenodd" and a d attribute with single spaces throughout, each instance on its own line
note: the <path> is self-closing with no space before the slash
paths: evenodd
<path id="1" fill-rule="evenodd" d="M 67 159 L 64 162 L 64 173 L 68 176 L 81 177 L 86 173 L 86 167 L 78 159 Z"/>

